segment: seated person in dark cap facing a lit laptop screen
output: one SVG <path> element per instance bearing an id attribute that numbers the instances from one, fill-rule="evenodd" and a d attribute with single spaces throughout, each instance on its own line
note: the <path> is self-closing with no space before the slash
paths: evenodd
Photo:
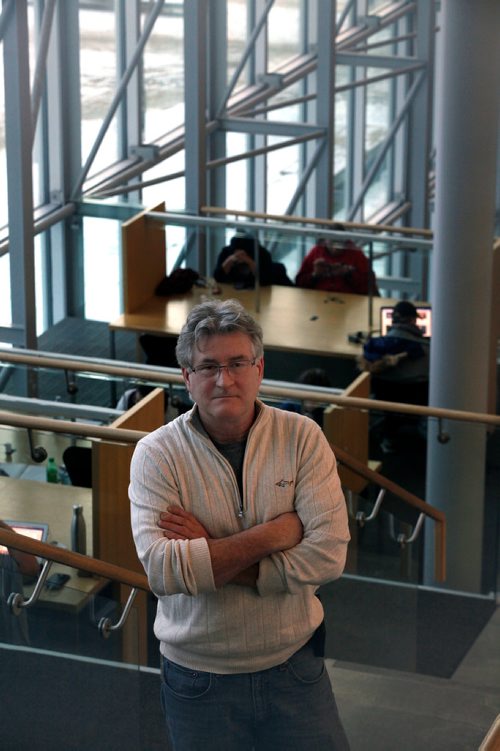
<path id="1" fill-rule="evenodd" d="M 372 392 L 376 399 L 404 404 L 427 405 L 429 401 L 430 339 L 417 326 L 418 312 L 407 300 L 398 302 L 392 326 L 385 336 L 369 339 L 358 364 L 372 374 Z M 391 442 L 407 415 L 386 413 L 385 445 Z"/>

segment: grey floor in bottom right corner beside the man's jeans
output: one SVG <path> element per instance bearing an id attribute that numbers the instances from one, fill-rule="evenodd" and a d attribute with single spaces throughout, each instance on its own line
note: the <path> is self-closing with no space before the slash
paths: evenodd
<path id="1" fill-rule="evenodd" d="M 477 751 L 500 713 L 500 611 L 451 679 L 327 666 L 351 751 Z"/>

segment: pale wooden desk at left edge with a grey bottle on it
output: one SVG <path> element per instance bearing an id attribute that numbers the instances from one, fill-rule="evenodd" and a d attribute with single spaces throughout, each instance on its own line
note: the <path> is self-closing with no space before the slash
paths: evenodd
<path id="1" fill-rule="evenodd" d="M 89 488 L 0 477 L 0 517 L 45 522 L 49 525 L 48 541 L 57 540 L 68 548 L 73 504 L 83 506 L 87 554 L 92 555 L 92 491 Z M 104 579 L 80 577 L 72 568 L 52 564 L 50 574 L 58 572 L 69 574 L 69 581 L 57 591 L 44 587 L 39 602 L 64 610 L 80 610 L 106 583 Z M 32 589 L 33 587 L 26 587 L 26 596 Z"/>

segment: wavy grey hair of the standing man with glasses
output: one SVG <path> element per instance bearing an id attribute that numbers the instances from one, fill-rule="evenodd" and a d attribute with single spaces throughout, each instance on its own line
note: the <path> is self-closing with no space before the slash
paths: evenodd
<path id="1" fill-rule="evenodd" d="M 209 300 L 196 305 L 181 329 L 175 354 L 181 368 L 190 368 L 195 347 L 206 337 L 216 334 L 246 334 L 253 345 L 254 356 L 262 357 L 262 328 L 238 300 Z"/>

